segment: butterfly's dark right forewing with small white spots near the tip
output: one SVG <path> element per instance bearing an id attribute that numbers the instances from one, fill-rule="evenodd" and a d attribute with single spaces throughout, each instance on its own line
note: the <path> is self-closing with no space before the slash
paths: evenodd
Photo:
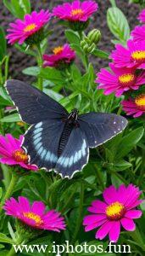
<path id="1" fill-rule="evenodd" d="M 114 113 L 85 113 L 79 116 L 79 124 L 86 134 L 89 148 L 98 147 L 125 129 L 127 120 Z"/>

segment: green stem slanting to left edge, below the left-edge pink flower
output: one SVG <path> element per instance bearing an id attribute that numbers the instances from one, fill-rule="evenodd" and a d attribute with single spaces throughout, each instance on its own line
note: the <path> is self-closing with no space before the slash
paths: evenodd
<path id="1" fill-rule="evenodd" d="M 19 179 L 19 177 L 17 175 L 15 175 L 14 173 L 12 173 L 12 178 L 9 183 L 8 189 L 7 189 L 6 194 L 4 195 L 3 200 L 1 201 L 1 204 L 0 204 L 0 213 L 3 210 L 3 205 L 4 205 L 5 201 L 8 200 L 8 198 L 12 195 L 15 184 L 17 183 L 18 179 Z"/>

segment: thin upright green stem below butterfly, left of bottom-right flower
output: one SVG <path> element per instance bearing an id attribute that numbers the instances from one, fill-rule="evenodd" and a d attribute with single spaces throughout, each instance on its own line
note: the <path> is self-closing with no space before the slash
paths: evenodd
<path id="1" fill-rule="evenodd" d="M 74 236 L 72 239 L 72 243 L 75 242 L 75 239 L 78 235 L 78 232 L 80 230 L 81 227 L 81 222 L 82 222 L 82 211 L 83 211 L 83 201 L 84 201 L 84 184 L 81 183 L 81 191 L 80 191 L 80 204 L 79 204 L 79 215 L 76 221 L 76 228 L 75 228 L 75 232 L 74 232 Z"/>

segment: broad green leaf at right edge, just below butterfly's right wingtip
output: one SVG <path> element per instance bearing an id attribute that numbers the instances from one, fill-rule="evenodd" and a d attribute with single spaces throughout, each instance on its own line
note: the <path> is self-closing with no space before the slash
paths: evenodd
<path id="1" fill-rule="evenodd" d="M 122 138 L 119 147 L 117 148 L 117 154 L 115 159 L 120 159 L 127 155 L 131 149 L 137 145 L 143 136 L 144 129 L 139 127 L 134 131 L 131 131 L 128 135 Z"/>

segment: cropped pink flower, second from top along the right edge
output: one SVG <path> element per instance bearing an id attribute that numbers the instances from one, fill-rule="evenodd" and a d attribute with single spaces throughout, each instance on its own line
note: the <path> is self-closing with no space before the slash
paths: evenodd
<path id="1" fill-rule="evenodd" d="M 135 42 L 145 41 L 145 25 L 136 26 L 135 29 L 131 32 L 131 36 Z"/>

